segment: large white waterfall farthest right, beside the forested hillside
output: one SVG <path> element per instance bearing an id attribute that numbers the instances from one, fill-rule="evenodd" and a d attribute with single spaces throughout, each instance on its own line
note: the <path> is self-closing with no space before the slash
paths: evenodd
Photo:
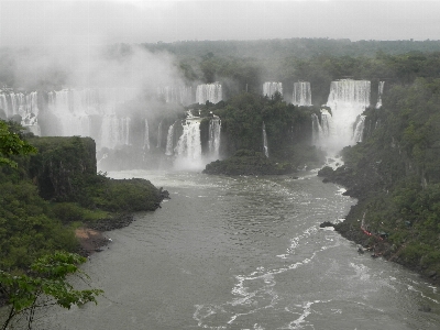
<path id="1" fill-rule="evenodd" d="M 336 151 L 353 143 L 353 124 L 370 106 L 370 92 L 371 82 L 367 80 L 343 79 L 331 82 L 327 102 L 331 109 L 327 147 Z M 323 119 L 321 118 L 321 127 L 324 132 Z"/>

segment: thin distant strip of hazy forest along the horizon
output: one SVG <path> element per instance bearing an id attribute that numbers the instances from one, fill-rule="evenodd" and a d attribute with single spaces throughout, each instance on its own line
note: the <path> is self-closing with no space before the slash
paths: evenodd
<path id="1" fill-rule="evenodd" d="M 202 57 L 208 53 L 219 57 L 253 57 L 258 59 L 279 61 L 286 57 L 310 58 L 326 56 L 367 56 L 374 57 L 377 52 L 399 55 L 414 51 L 440 52 L 440 41 L 356 41 L 348 38 L 273 38 L 253 41 L 180 41 L 174 43 L 141 44 L 153 53 L 167 52 L 183 57 Z M 128 45 L 122 51 L 127 52 Z"/>

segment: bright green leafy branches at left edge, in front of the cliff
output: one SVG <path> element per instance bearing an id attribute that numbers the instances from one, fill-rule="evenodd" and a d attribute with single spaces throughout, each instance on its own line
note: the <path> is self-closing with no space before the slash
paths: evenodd
<path id="1" fill-rule="evenodd" d="M 16 167 L 16 163 L 10 156 L 35 152 L 35 147 L 23 141 L 6 121 L 0 120 L 0 165 Z"/>

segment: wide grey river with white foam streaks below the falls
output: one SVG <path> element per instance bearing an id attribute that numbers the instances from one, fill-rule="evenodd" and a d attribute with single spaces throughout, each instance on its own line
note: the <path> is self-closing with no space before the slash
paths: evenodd
<path id="1" fill-rule="evenodd" d="M 329 229 L 356 200 L 316 173 L 222 177 L 119 172 L 170 194 L 85 264 L 97 306 L 43 329 L 439 329 L 440 294 Z M 419 310 L 429 306 L 431 312 Z"/>

